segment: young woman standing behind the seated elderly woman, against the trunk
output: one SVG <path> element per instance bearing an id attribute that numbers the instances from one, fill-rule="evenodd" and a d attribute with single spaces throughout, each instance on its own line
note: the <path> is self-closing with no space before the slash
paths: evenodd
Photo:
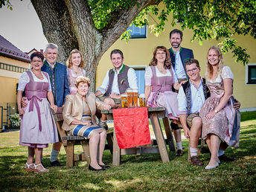
<path id="1" fill-rule="evenodd" d="M 73 49 L 65 62 L 68 70 L 68 86 L 70 94 L 77 93 L 77 87 L 75 86 L 77 77 L 86 77 L 86 71 L 83 69 L 85 61 L 80 51 Z"/>

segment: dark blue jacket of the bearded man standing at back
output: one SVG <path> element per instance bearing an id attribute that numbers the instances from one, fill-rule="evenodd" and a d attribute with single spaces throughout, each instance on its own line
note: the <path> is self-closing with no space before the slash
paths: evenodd
<path id="1" fill-rule="evenodd" d="M 173 52 L 173 49 L 170 48 L 170 49 L 168 49 L 168 51 L 170 53 L 170 60 L 171 60 L 171 63 L 173 64 L 173 68 L 175 68 L 175 54 Z M 193 51 L 189 48 L 180 48 L 179 55 L 180 55 L 180 58 L 182 60 L 182 65 L 185 70 L 185 62 L 189 59 L 193 59 Z M 185 73 L 188 78 L 188 74 L 187 74 L 186 70 L 185 70 Z"/>

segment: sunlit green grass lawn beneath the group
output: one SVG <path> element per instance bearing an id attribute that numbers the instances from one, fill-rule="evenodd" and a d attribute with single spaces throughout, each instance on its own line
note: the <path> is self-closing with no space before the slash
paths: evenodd
<path id="1" fill-rule="evenodd" d="M 183 140 L 185 155 L 176 158 L 171 152 L 169 163 L 163 164 L 159 154 L 122 156 L 121 166 L 99 173 L 88 170 L 85 161 L 80 161 L 71 169 L 49 167 L 50 145 L 43 153 L 44 163 L 50 172 L 42 174 L 25 172 L 28 149 L 19 146 L 19 132 L 2 132 L 0 191 L 255 191 L 255 128 L 256 118 L 246 116 L 241 122 L 240 147 L 226 150 L 227 156 L 238 160 L 222 163 L 214 170 L 191 165 L 187 160 L 188 140 Z M 76 150 L 82 151 L 79 146 Z M 200 158 L 206 165 L 210 156 L 205 153 Z M 65 164 L 63 147 L 59 159 Z M 104 152 L 103 160 L 112 164 L 108 150 Z"/>

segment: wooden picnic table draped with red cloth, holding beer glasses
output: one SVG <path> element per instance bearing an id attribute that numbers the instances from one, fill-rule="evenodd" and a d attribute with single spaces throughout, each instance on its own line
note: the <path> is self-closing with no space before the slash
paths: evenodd
<path id="1" fill-rule="evenodd" d="M 170 129 L 169 119 L 165 117 L 165 109 L 163 107 L 150 107 L 148 108 L 148 116 L 153 126 L 153 130 L 156 136 L 157 147 L 132 147 L 128 149 L 120 149 L 118 147 L 118 141 L 115 135 L 115 126 L 114 126 L 114 135 L 113 135 L 113 166 L 118 166 L 121 163 L 121 155 L 130 155 L 130 154 L 144 154 L 144 153 L 160 153 L 161 161 L 169 162 L 169 156 L 167 153 L 166 142 L 164 140 L 164 135 L 161 130 L 161 124 L 159 118 L 162 118 L 164 123 L 164 129 L 167 136 L 167 144 L 170 147 L 170 151 L 175 151 L 173 134 Z M 114 120 L 112 109 L 102 110 L 103 114 L 106 114 L 108 120 Z"/>

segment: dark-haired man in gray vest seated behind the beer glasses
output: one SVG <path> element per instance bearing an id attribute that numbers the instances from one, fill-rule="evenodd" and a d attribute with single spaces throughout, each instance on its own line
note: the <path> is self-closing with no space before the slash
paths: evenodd
<path id="1" fill-rule="evenodd" d="M 97 88 L 95 95 L 104 103 L 116 108 L 121 104 L 121 94 L 127 88 L 138 89 L 137 76 L 133 68 L 124 65 L 124 54 L 119 49 L 111 51 L 110 60 L 114 68 L 106 72 L 103 83 Z M 99 118 L 99 115 L 97 115 Z M 100 119 L 100 126 L 106 127 L 106 117 L 103 115 Z"/>

